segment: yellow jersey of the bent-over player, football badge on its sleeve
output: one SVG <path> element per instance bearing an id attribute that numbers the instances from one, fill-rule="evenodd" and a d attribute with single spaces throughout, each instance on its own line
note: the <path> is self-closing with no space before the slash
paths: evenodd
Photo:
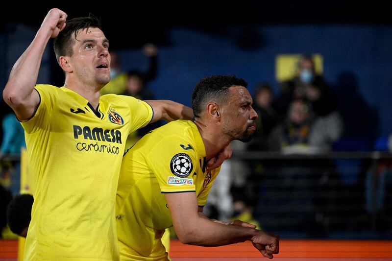
<path id="1" fill-rule="evenodd" d="M 161 237 L 172 227 L 164 193 L 195 191 L 204 206 L 219 169 L 206 171 L 206 152 L 195 123 L 175 120 L 128 150 L 116 199 L 120 260 L 167 260 Z"/>

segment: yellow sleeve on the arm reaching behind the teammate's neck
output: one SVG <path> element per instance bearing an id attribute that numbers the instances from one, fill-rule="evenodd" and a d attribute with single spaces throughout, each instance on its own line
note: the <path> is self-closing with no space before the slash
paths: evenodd
<path id="1" fill-rule="evenodd" d="M 146 126 L 154 116 L 152 107 L 145 101 L 136 99 L 132 96 L 119 95 L 129 106 L 130 109 L 130 133 Z"/>

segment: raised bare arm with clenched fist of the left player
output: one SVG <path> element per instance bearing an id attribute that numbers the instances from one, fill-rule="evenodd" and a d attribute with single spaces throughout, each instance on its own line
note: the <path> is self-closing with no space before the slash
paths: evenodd
<path id="1" fill-rule="evenodd" d="M 67 15 L 51 9 L 29 47 L 14 64 L 4 87 L 3 99 L 20 120 L 31 118 L 40 102 L 34 86 L 37 82 L 42 56 L 50 37 L 56 37 L 64 28 Z"/>

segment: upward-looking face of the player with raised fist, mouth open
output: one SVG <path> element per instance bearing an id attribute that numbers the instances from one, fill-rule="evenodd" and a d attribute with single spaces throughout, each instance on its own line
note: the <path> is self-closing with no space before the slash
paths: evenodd
<path id="1" fill-rule="evenodd" d="M 79 30 L 70 58 L 73 76 L 82 84 L 100 89 L 110 81 L 109 42 L 100 29 Z"/>

